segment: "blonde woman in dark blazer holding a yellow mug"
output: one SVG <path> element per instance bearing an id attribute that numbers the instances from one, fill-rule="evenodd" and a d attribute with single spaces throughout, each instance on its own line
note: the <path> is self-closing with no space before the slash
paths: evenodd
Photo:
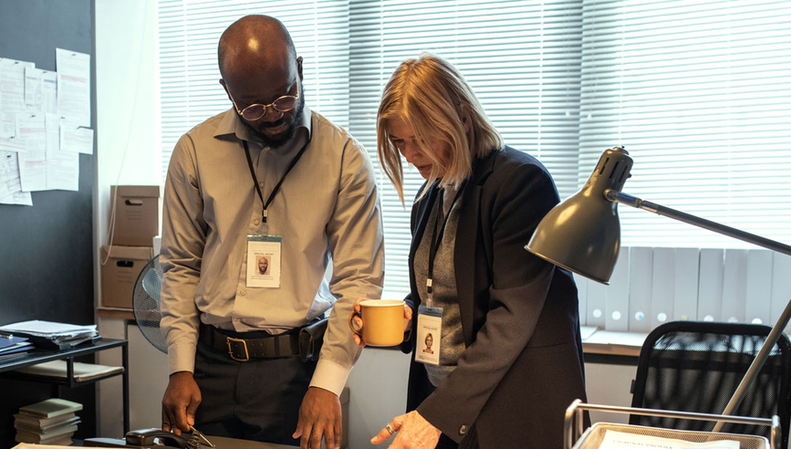
<path id="1" fill-rule="evenodd" d="M 524 249 L 558 203 L 552 178 L 504 145 L 462 75 L 440 57 L 395 70 L 377 132 L 401 201 L 401 156 L 426 183 L 411 210 L 411 336 L 401 344 L 412 353 L 410 412 L 371 443 L 397 433 L 392 448 L 560 447 L 567 406 L 585 400 L 577 287 L 569 272 Z M 439 365 L 421 363 L 414 336 L 429 325 L 419 316 L 431 323 L 438 314 Z"/>

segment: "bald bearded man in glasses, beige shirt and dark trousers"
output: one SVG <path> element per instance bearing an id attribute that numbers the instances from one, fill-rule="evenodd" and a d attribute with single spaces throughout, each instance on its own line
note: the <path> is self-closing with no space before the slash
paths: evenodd
<path id="1" fill-rule="evenodd" d="M 359 356 L 347 317 L 383 280 L 373 169 L 305 105 L 302 58 L 279 21 L 239 19 L 218 60 L 232 107 L 182 136 L 165 185 L 162 428 L 302 448 L 324 435 L 337 448 L 338 394 Z M 256 251 L 270 258 L 265 278 Z M 330 308 L 320 358 L 302 361 L 299 329 Z"/>

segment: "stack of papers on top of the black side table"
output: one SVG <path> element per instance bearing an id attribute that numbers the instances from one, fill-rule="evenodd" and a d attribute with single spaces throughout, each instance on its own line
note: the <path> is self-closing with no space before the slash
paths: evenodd
<path id="1" fill-rule="evenodd" d="M 0 332 L 25 336 L 34 345 L 51 350 L 68 350 L 80 343 L 99 339 L 95 324 L 78 326 L 37 319 L 0 326 Z"/>

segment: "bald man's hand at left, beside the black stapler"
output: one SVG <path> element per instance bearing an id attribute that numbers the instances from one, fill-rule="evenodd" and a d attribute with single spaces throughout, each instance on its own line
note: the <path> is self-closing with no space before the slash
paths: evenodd
<path id="1" fill-rule="evenodd" d="M 172 373 L 162 397 L 162 430 L 177 435 L 189 432 L 190 426 L 195 424 L 195 411 L 200 404 L 201 389 L 195 383 L 193 373 Z"/>

